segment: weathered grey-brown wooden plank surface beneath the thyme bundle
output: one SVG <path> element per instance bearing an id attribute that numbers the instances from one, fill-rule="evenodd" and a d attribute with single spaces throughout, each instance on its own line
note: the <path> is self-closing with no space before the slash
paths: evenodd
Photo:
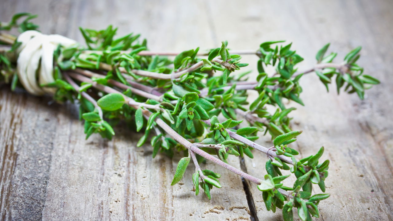
<path id="1" fill-rule="evenodd" d="M 378 1 L 227 1 L 104 2 L 2 1 L 0 20 L 16 12 L 39 14 L 43 33 L 82 41 L 78 26 L 119 27 L 119 34 L 142 33 L 154 50 L 212 48 L 228 40 L 233 49 L 252 49 L 262 41 L 287 39 L 314 64 L 316 51 L 331 42 L 342 59 L 362 45 L 360 64 L 383 83 L 356 95 L 327 93 L 315 76 L 304 77 L 305 107 L 295 105 L 294 129 L 303 129 L 296 145 L 301 156 L 325 146 L 331 159 L 327 192 L 319 220 L 392 220 L 393 211 L 393 2 Z M 226 21 L 230 19 L 230 22 Z M 250 68 L 255 69 L 255 57 Z M 266 211 L 261 192 L 222 173 L 224 188 L 213 199 L 194 196 L 191 179 L 170 186 L 176 159 L 151 158 L 151 147 L 135 147 L 141 134 L 117 127 L 112 141 L 84 140 L 83 125 L 72 104 L 51 104 L 25 92 L 0 89 L 0 211 L 6 220 L 281 220 Z M 269 138 L 259 143 L 269 146 Z M 254 152 L 242 169 L 262 177 L 266 157 Z M 231 164 L 241 168 L 237 158 Z M 190 167 L 185 177 L 193 172 Z M 251 210 L 249 204 L 255 204 Z"/>

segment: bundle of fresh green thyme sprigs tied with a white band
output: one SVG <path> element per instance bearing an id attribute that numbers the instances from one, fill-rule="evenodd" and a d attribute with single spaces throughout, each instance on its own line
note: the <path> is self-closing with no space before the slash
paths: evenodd
<path id="1" fill-rule="evenodd" d="M 21 18 L 25 19 L 18 23 Z M 140 35 L 118 38 L 117 29 L 109 26 L 98 31 L 80 28 L 87 45 L 83 47 L 61 36 L 32 31 L 38 26 L 31 18 L 28 13 L 17 14 L 0 26 L 0 30 L 16 27 L 22 32 L 18 39 L 0 33 L 0 42 L 11 45 L 0 48 L 0 76 L 12 90 L 22 86 L 31 94 L 51 93 L 58 102 L 77 101 L 86 139 L 93 133 L 111 139 L 112 127 L 125 121 L 131 129 L 143 131 L 138 147 L 150 138 L 152 157 L 160 152 L 170 157 L 176 151 L 184 153 L 171 185 L 182 179 L 192 160 L 196 195 L 201 191 L 210 199 L 213 187 L 222 188 L 220 174 L 200 166 L 204 160 L 219 164 L 257 184 L 267 210 L 281 208 L 286 221 L 293 220 L 294 207 L 303 221 L 319 217 L 318 204 L 329 194 L 312 195 L 312 188 L 317 184 L 325 192 L 329 160 L 320 162 L 323 147 L 315 155 L 296 158 L 298 152 L 290 144 L 302 131 L 290 129 L 288 114 L 295 108 L 286 107 L 284 101 L 303 105 L 299 80 L 309 73 L 315 73 L 327 90 L 335 80 L 338 93 L 343 88 L 361 99 L 365 89 L 379 83 L 356 64 L 360 47 L 343 62 L 333 63 L 337 53 L 327 54 L 327 44 L 318 51 L 313 68 L 298 72 L 296 64 L 303 58 L 284 41 L 263 42 L 250 51 L 229 50 L 223 41 L 207 52 L 199 48 L 151 52 Z M 241 72 L 248 65 L 241 63 L 243 54 L 259 57 L 256 79 L 249 80 L 250 72 Z M 275 72 L 266 73 L 269 67 Z M 259 94 L 252 103 L 247 101 L 247 90 Z M 273 145 L 255 143 L 258 132 L 269 133 Z M 268 157 L 263 179 L 227 161 L 229 155 L 253 158 L 254 149 Z M 296 181 L 284 186 L 291 173 Z"/>

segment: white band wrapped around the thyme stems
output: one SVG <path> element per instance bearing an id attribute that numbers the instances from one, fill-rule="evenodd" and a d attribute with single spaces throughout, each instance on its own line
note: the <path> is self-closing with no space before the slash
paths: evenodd
<path id="1" fill-rule="evenodd" d="M 61 44 L 69 47 L 76 41 L 61 35 L 44 35 L 38 31 L 25 31 L 17 39 L 17 73 L 23 87 L 31 94 L 55 93 L 55 88 L 40 87 L 53 83 L 53 51 Z"/>

